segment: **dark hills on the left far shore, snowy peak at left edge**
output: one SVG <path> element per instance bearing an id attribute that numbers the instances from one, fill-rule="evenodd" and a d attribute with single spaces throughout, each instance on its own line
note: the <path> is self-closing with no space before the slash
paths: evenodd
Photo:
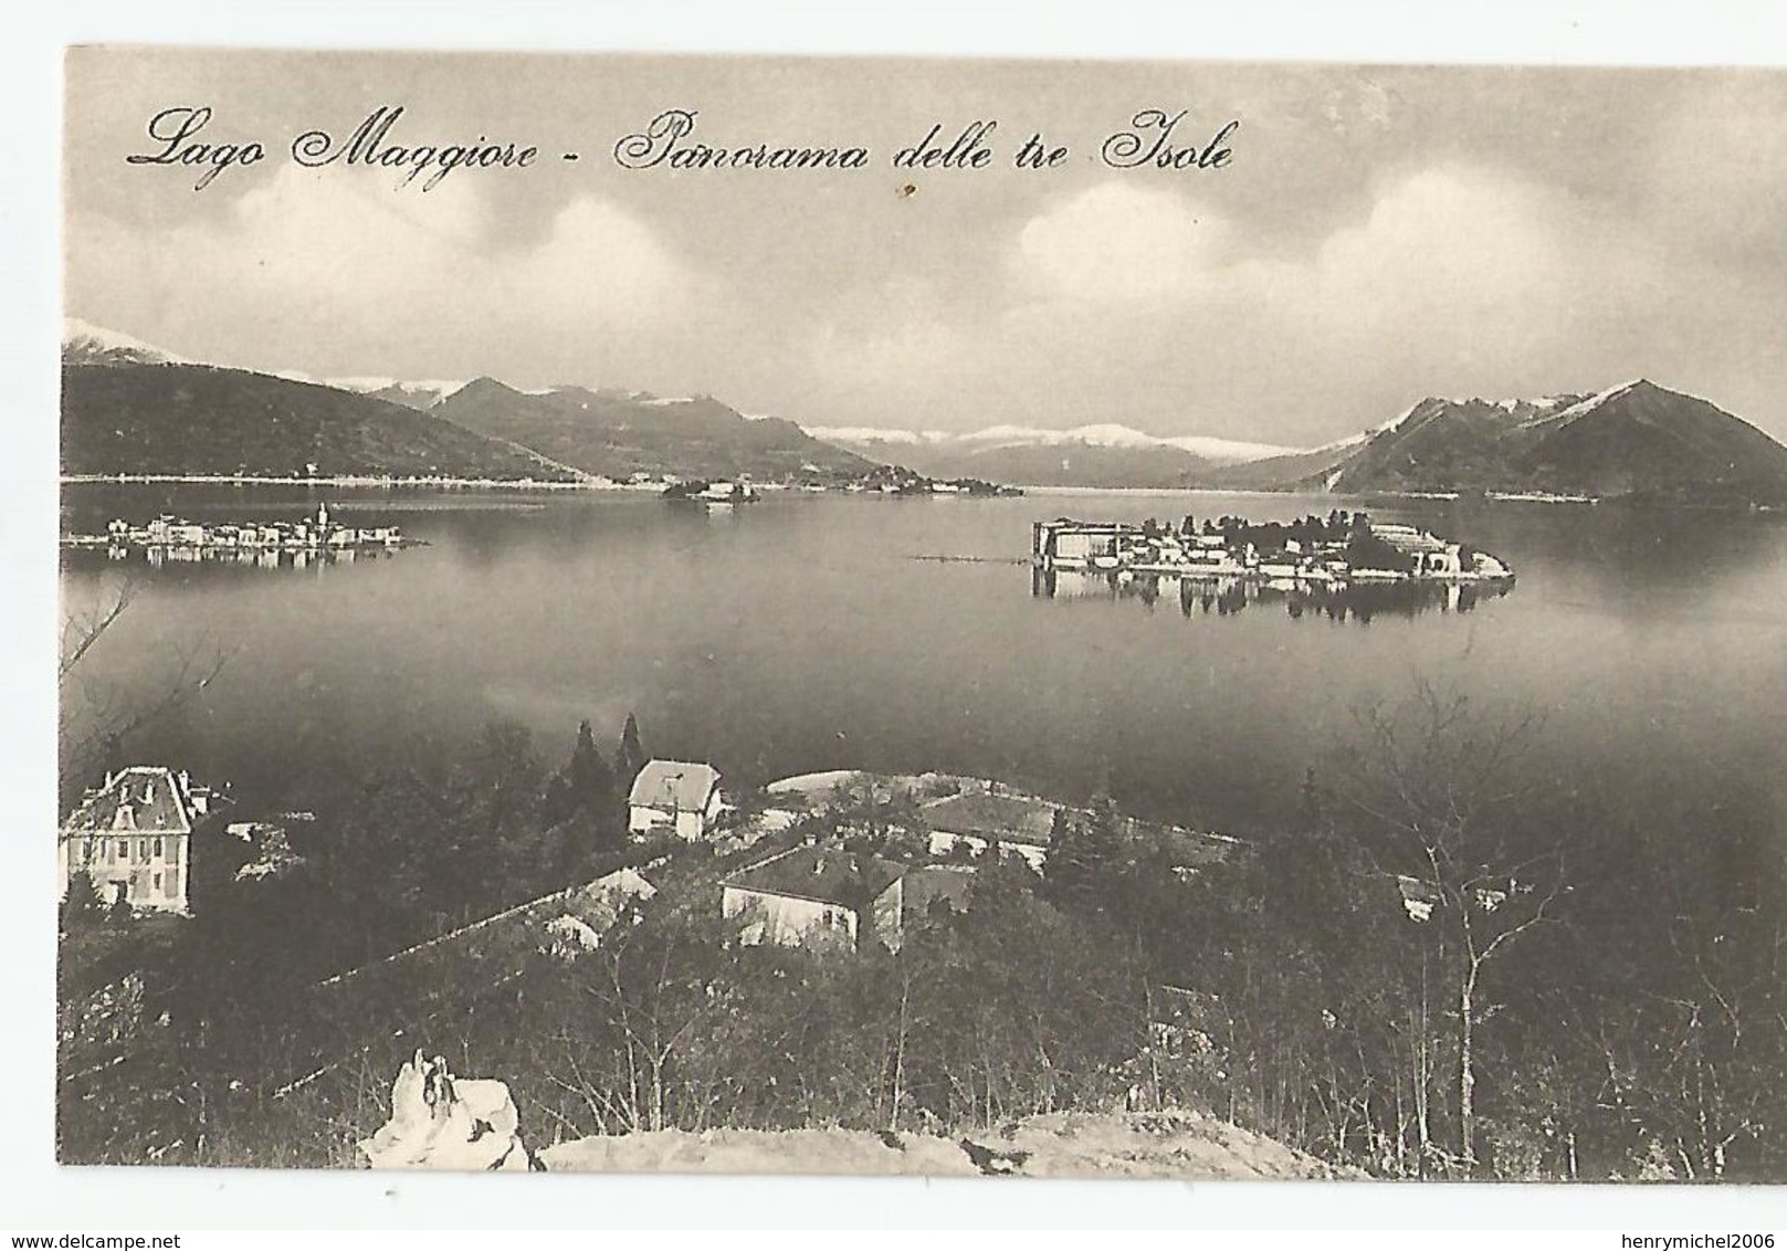
<path id="1" fill-rule="evenodd" d="M 315 379 L 200 365 L 77 320 L 63 329 L 68 475 L 843 481 L 876 468 L 709 397 Z"/>

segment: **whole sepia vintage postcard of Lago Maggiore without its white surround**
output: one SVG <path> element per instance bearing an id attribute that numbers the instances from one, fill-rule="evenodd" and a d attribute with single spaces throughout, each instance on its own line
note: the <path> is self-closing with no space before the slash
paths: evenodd
<path id="1" fill-rule="evenodd" d="M 1787 1180 L 1787 73 L 64 71 L 61 1162 Z"/>

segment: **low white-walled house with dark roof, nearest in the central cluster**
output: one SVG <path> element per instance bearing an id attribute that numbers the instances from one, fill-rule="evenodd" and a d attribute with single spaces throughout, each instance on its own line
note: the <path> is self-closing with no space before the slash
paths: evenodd
<path id="1" fill-rule="evenodd" d="M 783 947 L 901 947 L 904 865 L 842 847 L 793 847 L 720 883 L 740 942 Z"/>

